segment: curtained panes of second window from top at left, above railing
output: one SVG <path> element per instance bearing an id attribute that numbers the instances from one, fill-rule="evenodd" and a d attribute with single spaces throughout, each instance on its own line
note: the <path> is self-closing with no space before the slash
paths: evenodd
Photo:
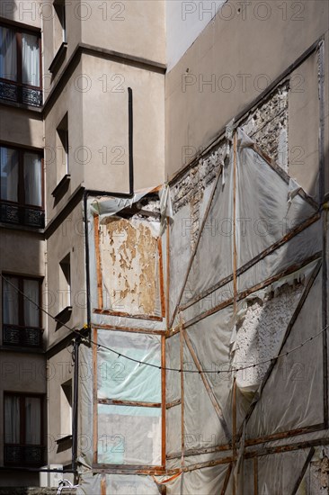
<path id="1" fill-rule="evenodd" d="M 0 147 L 0 201 L 42 208 L 40 153 Z"/>

